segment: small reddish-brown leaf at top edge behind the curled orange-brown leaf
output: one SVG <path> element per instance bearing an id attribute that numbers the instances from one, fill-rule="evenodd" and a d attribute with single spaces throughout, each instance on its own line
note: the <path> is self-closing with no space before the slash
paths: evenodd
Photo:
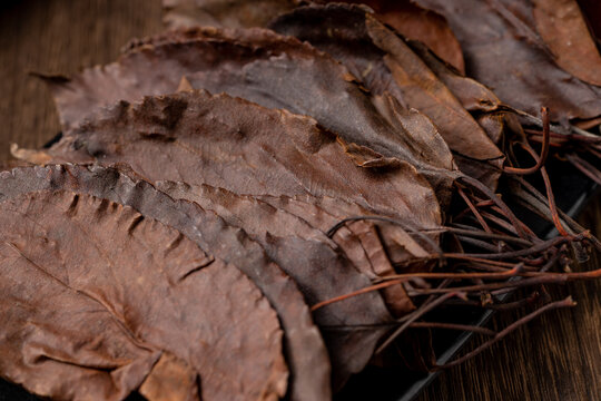
<path id="1" fill-rule="evenodd" d="M 316 3 L 345 2 L 370 6 L 376 17 L 405 38 L 425 43 L 440 58 L 464 71 L 461 46 L 441 14 L 425 10 L 411 0 L 345 0 L 315 1 Z"/>

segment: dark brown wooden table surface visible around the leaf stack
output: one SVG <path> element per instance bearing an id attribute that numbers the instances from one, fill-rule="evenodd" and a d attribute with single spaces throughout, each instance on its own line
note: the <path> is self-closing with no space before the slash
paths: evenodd
<path id="1" fill-rule="evenodd" d="M 114 60 L 132 37 L 161 30 L 159 0 L 0 2 L 0 162 L 9 143 L 38 147 L 59 131 L 45 86 L 29 71 L 72 74 Z M 601 237 L 601 203 L 580 218 Z M 599 260 L 592 265 L 600 266 Z M 480 356 L 443 372 L 426 400 L 601 400 L 601 281 L 554 290 L 575 309 L 551 312 Z M 503 327 L 516 314 L 497 314 Z M 467 349 L 480 344 L 472 340 Z"/>

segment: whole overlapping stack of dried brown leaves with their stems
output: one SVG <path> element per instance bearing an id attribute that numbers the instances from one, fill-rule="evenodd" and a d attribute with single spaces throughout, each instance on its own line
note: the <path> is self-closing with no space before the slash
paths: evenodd
<path id="1" fill-rule="evenodd" d="M 42 76 L 63 131 L 0 173 L 0 375 L 57 399 L 328 400 L 370 363 L 442 368 L 424 329 L 491 335 L 455 364 L 574 304 L 499 296 L 600 275 L 569 272 L 600 244 L 545 169 L 601 182 L 575 1 L 366 2 L 165 0 L 174 29 Z M 428 319 L 457 304 L 532 312 Z"/>

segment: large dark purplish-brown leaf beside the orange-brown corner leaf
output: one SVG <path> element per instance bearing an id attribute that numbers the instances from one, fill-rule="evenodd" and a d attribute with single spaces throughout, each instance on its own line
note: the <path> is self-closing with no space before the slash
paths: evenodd
<path id="1" fill-rule="evenodd" d="M 538 115 L 549 107 L 553 120 L 601 115 L 601 88 L 555 65 L 534 31 L 532 2 L 521 0 L 416 0 L 442 13 L 457 37 L 467 76 L 494 90 L 504 102 Z"/>

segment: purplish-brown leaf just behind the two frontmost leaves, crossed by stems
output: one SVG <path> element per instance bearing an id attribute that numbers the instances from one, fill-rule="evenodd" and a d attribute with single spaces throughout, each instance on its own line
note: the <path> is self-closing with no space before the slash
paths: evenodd
<path id="1" fill-rule="evenodd" d="M 244 227 L 295 280 L 311 305 L 371 285 L 370 278 L 358 274 L 352 261 L 337 252 L 332 241 L 297 216 L 253 196 L 236 195 L 207 185 L 190 186 L 173 182 L 159 182 L 156 185 L 176 199 L 195 202 L 207 211 L 214 211 L 228 224 Z M 401 291 L 405 295 L 403 301 L 407 302 L 408 297 L 402 287 Z M 359 331 L 349 335 L 341 331 L 329 333 L 327 327 L 390 322 L 392 317 L 380 297 L 374 295 L 332 304 L 314 313 L 329 350 L 335 390 L 351 374 L 363 370 L 387 329 Z"/>

